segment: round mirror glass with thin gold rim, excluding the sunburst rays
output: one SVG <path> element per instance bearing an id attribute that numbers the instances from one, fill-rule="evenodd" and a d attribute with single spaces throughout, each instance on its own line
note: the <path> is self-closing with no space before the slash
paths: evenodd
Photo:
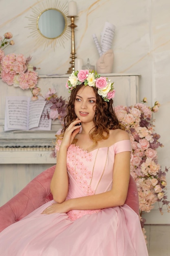
<path id="1" fill-rule="evenodd" d="M 58 9 L 46 9 L 37 19 L 37 28 L 46 38 L 57 38 L 66 29 L 66 20 L 62 12 Z"/>

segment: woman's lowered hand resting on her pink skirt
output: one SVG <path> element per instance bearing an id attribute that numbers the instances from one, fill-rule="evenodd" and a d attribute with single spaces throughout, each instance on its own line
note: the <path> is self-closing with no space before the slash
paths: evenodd
<path id="1" fill-rule="evenodd" d="M 52 214 L 52 213 L 66 213 L 68 212 L 68 205 L 67 201 L 59 204 L 59 203 L 53 203 L 49 207 L 47 207 L 41 214 Z"/>

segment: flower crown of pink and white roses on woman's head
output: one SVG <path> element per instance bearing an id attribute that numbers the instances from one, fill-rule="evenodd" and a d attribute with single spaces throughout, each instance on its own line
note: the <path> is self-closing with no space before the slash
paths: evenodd
<path id="1" fill-rule="evenodd" d="M 71 92 L 77 85 L 81 85 L 82 83 L 85 86 L 88 85 L 97 88 L 97 93 L 102 96 L 104 101 L 109 101 L 115 96 L 113 83 L 110 80 L 107 81 L 106 77 L 89 70 L 73 72 L 66 82 L 66 88 Z"/>

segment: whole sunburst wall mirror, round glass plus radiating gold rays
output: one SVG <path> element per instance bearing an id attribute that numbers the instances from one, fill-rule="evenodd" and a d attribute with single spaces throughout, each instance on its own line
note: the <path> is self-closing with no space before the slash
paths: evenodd
<path id="1" fill-rule="evenodd" d="M 31 7 L 33 14 L 27 26 L 31 35 L 36 38 L 36 44 L 51 47 L 55 51 L 57 43 L 64 47 L 65 40 L 70 38 L 68 27 L 68 2 L 60 3 L 58 0 L 38 2 L 36 7 Z"/>

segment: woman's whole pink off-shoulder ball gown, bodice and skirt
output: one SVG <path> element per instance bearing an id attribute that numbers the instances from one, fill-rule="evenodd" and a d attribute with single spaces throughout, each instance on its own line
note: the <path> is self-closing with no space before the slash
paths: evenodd
<path id="1" fill-rule="evenodd" d="M 87 152 L 69 146 L 67 199 L 112 188 L 116 153 L 130 141 Z M 0 256 L 148 256 L 139 216 L 124 204 L 98 210 L 41 214 L 48 202 L 0 233 Z"/>

